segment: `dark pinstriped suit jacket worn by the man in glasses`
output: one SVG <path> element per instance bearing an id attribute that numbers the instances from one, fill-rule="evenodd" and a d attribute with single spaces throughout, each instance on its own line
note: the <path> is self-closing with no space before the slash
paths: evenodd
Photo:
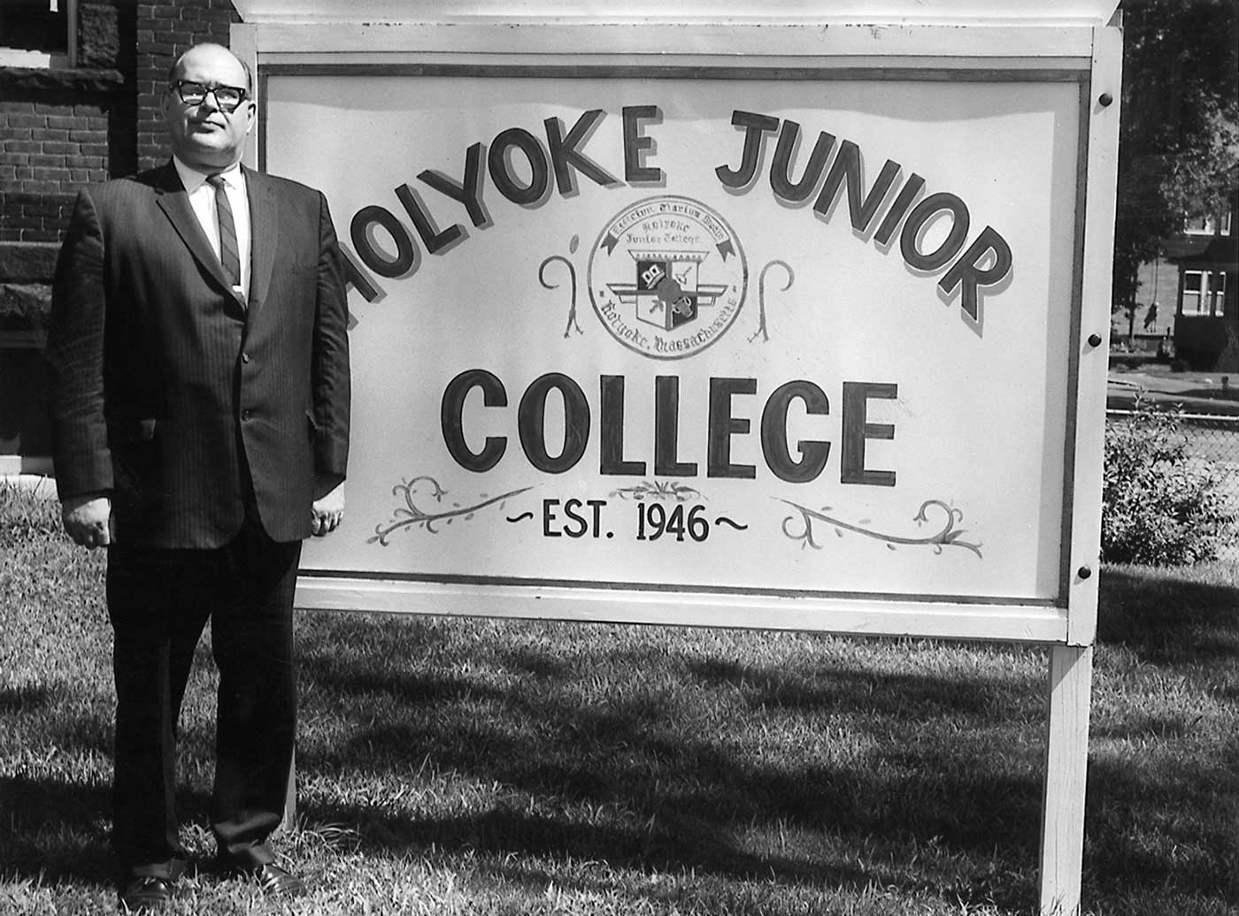
<path id="1" fill-rule="evenodd" d="M 245 181 L 248 306 L 171 162 L 78 196 L 47 340 L 56 484 L 62 500 L 110 491 L 119 542 L 225 543 L 244 463 L 264 529 L 299 540 L 316 475 L 344 478 L 347 309 L 327 202 Z"/>

